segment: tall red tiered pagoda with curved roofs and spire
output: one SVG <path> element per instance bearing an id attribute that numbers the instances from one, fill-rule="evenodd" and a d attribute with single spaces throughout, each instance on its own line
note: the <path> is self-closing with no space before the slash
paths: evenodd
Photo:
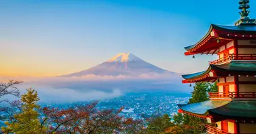
<path id="1" fill-rule="evenodd" d="M 241 19 L 232 26 L 210 25 L 186 56 L 216 54 L 203 72 L 183 75 L 183 83 L 218 82 L 210 100 L 178 105 L 179 113 L 207 120 L 207 133 L 256 133 L 256 22 L 248 17 L 249 0 L 239 1 Z"/>

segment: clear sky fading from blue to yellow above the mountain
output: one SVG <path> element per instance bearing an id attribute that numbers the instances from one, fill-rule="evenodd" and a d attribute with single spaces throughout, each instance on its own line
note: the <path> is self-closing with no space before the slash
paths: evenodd
<path id="1" fill-rule="evenodd" d="M 250 17 L 256 17 L 251 1 Z M 210 23 L 233 25 L 238 0 L 0 0 L 0 76 L 56 76 L 131 52 L 174 72 L 207 69 L 184 56 Z"/>

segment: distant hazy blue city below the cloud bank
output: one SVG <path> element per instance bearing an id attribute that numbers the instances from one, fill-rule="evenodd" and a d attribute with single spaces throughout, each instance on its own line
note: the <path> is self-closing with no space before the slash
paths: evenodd
<path id="1" fill-rule="evenodd" d="M 177 104 L 187 104 L 190 94 L 178 92 L 130 93 L 118 98 L 100 100 L 97 109 L 120 109 L 122 116 L 133 119 L 147 119 L 151 116 L 168 114 L 172 117 L 178 111 Z M 81 103 L 81 102 L 79 102 Z M 48 103 L 42 107 L 67 109 L 78 103 Z"/>

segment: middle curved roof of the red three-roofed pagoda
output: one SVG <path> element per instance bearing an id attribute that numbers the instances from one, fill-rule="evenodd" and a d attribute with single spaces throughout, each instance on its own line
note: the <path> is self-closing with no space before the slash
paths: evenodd
<path id="1" fill-rule="evenodd" d="M 214 72 L 214 75 L 210 75 Z M 210 64 L 207 70 L 194 74 L 182 75 L 185 80 L 183 83 L 199 82 L 205 80 L 216 80 L 216 78 L 228 74 L 256 74 L 256 62 L 237 62 L 232 61 L 228 64 Z"/>

